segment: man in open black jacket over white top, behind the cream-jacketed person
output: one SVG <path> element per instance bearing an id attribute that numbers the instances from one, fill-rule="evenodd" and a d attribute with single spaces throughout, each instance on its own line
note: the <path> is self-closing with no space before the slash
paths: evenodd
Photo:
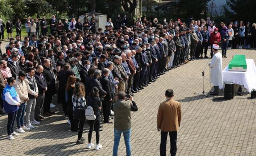
<path id="1" fill-rule="evenodd" d="M 20 72 L 20 66 L 18 65 L 18 55 L 12 54 L 12 58 L 8 59 L 7 67 L 11 69 L 12 77 L 17 77 Z"/>

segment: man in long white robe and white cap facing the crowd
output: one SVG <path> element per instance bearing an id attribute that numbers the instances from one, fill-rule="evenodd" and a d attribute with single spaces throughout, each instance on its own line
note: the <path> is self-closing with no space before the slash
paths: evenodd
<path id="1" fill-rule="evenodd" d="M 222 54 L 218 52 L 218 49 L 218 45 L 212 45 L 214 55 L 209 66 L 211 68 L 210 82 L 214 85 L 214 92 L 210 92 L 210 95 L 219 95 L 219 88 L 223 88 Z"/>

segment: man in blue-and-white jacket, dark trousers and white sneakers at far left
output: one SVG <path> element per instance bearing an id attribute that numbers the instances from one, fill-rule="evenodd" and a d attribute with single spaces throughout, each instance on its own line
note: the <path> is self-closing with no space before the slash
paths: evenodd
<path id="1" fill-rule="evenodd" d="M 14 122 L 21 104 L 20 98 L 15 88 L 13 88 L 15 81 L 14 77 L 9 77 L 3 91 L 3 106 L 5 112 L 8 114 L 7 139 L 9 140 L 14 140 L 13 136 L 19 136 L 19 134 L 14 131 Z"/>

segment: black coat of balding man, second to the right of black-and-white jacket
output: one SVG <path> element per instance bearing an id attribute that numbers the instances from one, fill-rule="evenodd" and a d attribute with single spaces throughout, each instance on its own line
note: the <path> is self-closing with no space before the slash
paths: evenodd
<path id="1" fill-rule="evenodd" d="M 55 93 L 55 78 L 54 73 L 50 70 L 50 68 L 44 66 L 44 77 L 47 84 L 47 91 L 49 93 Z"/>

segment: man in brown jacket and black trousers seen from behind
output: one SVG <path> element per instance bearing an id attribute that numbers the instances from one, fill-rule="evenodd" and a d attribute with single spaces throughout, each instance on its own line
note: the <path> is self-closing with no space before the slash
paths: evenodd
<path id="1" fill-rule="evenodd" d="M 161 129 L 160 155 L 166 156 L 166 140 L 169 132 L 171 156 L 176 156 L 177 152 L 177 131 L 181 125 L 181 103 L 174 101 L 173 90 L 165 91 L 166 100 L 162 102 L 157 113 L 157 130 Z"/>

